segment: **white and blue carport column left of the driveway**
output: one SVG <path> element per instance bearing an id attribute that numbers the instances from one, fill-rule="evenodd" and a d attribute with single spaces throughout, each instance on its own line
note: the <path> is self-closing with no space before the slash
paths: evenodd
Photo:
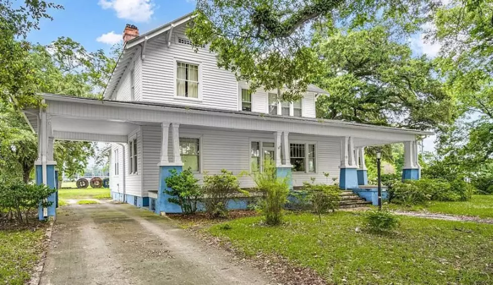
<path id="1" fill-rule="evenodd" d="M 38 185 L 45 184 L 50 188 L 57 188 L 55 175 L 56 162 L 53 159 L 53 132 L 51 129 L 51 119 L 45 110 L 40 111 L 38 117 L 38 159 L 35 161 L 35 177 Z M 38 219 L 45 219 L 45 216 L 56 218 L 56 197 L 57 193 L 50 195 L 46 201 L 48 207 L 43 207 L 41 201 L 38 207 Z"/>

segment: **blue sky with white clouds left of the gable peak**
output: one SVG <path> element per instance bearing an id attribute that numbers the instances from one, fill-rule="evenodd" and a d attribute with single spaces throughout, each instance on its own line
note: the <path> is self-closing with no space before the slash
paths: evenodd
<path id="1" fill-rule="evenodd" d="M 43 20 L 41 30 L 32 31 L 28 40 L 46 45 L 58 37 L 70 37 L 89 51 L 109 49 L 121 40 L 127 23 L 136 25 L 140 33 L 144 33 L 195 8 L 193 0 L 49 1 L 62 5 L 64 10 L 50 11 L 53 21 Z"/>

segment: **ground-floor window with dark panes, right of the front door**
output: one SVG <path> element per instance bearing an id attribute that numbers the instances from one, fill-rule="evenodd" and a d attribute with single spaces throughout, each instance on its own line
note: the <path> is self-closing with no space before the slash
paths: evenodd
<path id="1" fill-rule="evenodd" d="M 292 143 L 289 145 L 293 172 L 315 172 L 315 145 Z"/>

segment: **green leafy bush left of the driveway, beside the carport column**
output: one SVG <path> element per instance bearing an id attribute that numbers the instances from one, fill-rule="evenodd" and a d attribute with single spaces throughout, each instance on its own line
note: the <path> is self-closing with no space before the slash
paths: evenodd
<path id="1" fill-rule="evenodd" d="M 56 189 L 46 185 L 26 184 L 22 181 L 0 183 L 0 221 L 17 220 L 29 223 L 29 219 L 38 213 L 38 206 L 49 207 L 53 202 L 46 199 Z"/>

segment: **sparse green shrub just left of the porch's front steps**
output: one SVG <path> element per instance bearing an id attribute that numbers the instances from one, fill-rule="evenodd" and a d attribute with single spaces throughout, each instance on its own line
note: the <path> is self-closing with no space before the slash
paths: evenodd
<path id="1" fill-rule="evenodd" d="M 312 182 L 303 182 L 304 191 L 307 194 L 311 209 L 322 222 L 322 214 L 339 208 L 341 190 L 338 185 L 326 185 Z"/>

